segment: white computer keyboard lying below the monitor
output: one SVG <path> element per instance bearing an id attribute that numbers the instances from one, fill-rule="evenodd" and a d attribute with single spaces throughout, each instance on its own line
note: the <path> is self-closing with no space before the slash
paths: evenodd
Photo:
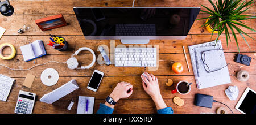
<path id="1" fill-rule="evenodd" d="M 115 48 L 115 67 L 156 67 L 156 48 Z"/>

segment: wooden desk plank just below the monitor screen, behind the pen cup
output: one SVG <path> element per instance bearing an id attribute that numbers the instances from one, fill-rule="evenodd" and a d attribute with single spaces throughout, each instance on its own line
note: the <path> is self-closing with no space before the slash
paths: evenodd
<path id="1" fill-rule="evenodd" d="M 182 46 L 185 47 L 186 52 L 188 53 L 189 45 L 201 44 L 204 42 L 213 41 L 210 40 L 211 35 L 189 35 L 185 40 L 150 40 L 149 44 L 146 46 L 158 45 L 159 53 L 183 53 Z M 255 38 L 256 34 L 251 34 L 251 37 Z M 100 54 L 100 51 L 97 51 L 98 46 L 106 45 L 109 48 L 110 53 L 110 40 L 86 40 L 84 36 L 63 36 L 65 40 L 69 43 L 69 49 L 67 51 L 58 51 L 52 49 L 51 46 L 48 46 L 47 43 L 49 41 L 49 36 L 3 36 L 0 40 L 0 44 L 8 42 L 15 46 L 17 54 L 21 54 L 20 46 L 26 45 L 29 42 L 33 42 L 35 40 L 43 40 L 44 46 L 46 48 L 47 54 L 73 54 L 76 50 L 81 48 L 82 46 L 86 46 L 91 48 L 94 53 Z M 213 38 L 217 37 L 214 35 Z M 246 42 L 240 35 L 237 35 L 237 40 L 239 41 L 240 52 L 253 52 L 256 51 L 256 46 L 254 45 L 254 40 L 245 37 L 249 46 L 247 46 Z M 225 52 L 238 52 L 236 42 L 232 37 L 232 42 L 229 41 L 229 48 L 226 45 L 225 35 L 221 35 L 219 38 L 222 41 L 222 46 L 225 49 Z M 115 46 L 122 44 L 120 40 L 115 40 Z M 129 45 L 126 45 L 128 47 Z M 141 45 L 140 45 L 141 46 Z M 89 51 L 81 51 L 81 54 L 89 54 Z M 3 54 L 10 54 L 9 49 L 4 49 Z"/>

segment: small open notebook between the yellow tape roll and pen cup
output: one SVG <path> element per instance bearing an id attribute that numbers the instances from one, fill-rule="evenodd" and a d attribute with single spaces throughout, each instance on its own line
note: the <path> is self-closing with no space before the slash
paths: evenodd
<path id="1" fill-rule="evenodd" d="M 20 50 L 26 62 L 46 55 L 42 40 L 36 40 L 28 45 L 20 46 Z"/>

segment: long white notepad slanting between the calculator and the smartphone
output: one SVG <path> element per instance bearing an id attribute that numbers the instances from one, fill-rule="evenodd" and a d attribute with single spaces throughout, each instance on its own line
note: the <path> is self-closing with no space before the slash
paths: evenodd
<path id="1" fill-rule="evenodd" d="M 47 104 L 52 104 L 78 88 L 79 86 L 77 85 L 76 80 L 73 79 L 52 92 L 44 94 L 44 96 L 40 98 L 40 101 L 46 102 Z"/>

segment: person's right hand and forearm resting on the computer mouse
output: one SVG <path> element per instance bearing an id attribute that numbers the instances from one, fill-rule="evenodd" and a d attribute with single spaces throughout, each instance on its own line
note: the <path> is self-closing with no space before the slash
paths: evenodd
<path id="1" fill-rule="evenodd" d="M 166 108 L 166 104 L 163 101 L 162 95 L 160 93 L 159 84 L 158 84 L 158 78 L 155 77 L 153 74 L 148 74 L 145 72 L 145 74 L 148 77 L 148 80 L 145 76 L 142 76 L 142 79 L 145 81 L 142 81 L 142 86 L 146 93 L 151 96 L 152 100 L 155 102 L 156 109 L 163 109 Z"/>

